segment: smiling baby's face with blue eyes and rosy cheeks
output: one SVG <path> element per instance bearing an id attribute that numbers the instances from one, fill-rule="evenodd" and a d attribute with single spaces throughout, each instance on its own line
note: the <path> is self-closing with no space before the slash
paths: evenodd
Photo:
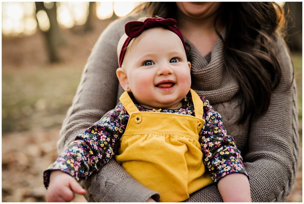
<path id="1" fill-rule="evenodd" d="M 118 78 L 147 108 L 179 108 L 191 86 L 190 62 L 181 39 L 163 28 L 147 30 L 126 52 Z M 122 83 L 123 82 L 123 83 Z"/>

